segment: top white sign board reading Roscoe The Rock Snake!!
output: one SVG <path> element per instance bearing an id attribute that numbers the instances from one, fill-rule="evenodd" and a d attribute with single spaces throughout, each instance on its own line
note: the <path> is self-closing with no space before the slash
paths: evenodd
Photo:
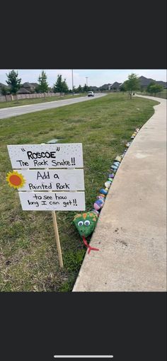
<path id="1" fill-rule="evenodd" d="M 83 168 L 81 143 L 8 145 L 11 165 L 23 168 Z"/>

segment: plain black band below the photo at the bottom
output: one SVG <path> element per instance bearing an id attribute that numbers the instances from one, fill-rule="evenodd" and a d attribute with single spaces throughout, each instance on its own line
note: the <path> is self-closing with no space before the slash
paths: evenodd
<path id="1" fill-rule="evenodd" d="M 165 361 L 165 310 L 165 292 L 4 292 L 1 360 L 111 354 Z"/>

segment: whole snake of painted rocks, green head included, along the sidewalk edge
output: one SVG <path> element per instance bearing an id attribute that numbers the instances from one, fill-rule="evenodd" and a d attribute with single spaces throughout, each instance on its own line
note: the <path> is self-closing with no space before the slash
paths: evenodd
<path id="1" fill-rule="evenodd" d="M 98 216 L 100 214 L 100 210 L 103 208 L 103 205 L 105 203 L 105 197 L 106 197 L 106 195 L 108 195 L 108 190 L 113 183 L 115 173 L 117 172 L 117 169 L 119 168 L 120 163 L 127 152 L 127 149 L 129 148 L 130 144 L 132 143 L 134 137 L 136 137 L 138 132 L 139 132 L 139 128 L 136 128 L 135 132 L 131 136 L 131 139 L 132 139 L 131 142 L 127 142 L 125 144 L 125 147 L 126 147 L 125 151 L 120 156 L 115 157 L 113 164 L 110 166 L 111 173 L 108 174 L 108 179 L 104 183 L 105 188 L 100 188 L 99 194 L 96 197 L 96 200 L 93 204 L 93 209 L 91 210 L 91 212 L 85 212 L 84 214 L 76 214 L 75 215 L 74 224 L 75 224 L 76 228 L 78 229 L 79 234 L 80 234 L 80 236 L 82 236 L 82 238 L 85 236 L 89 236 L 91 233 L 93 233 L 93 231 L 96 227 L 96 223 L 98 221 Z M 94 219 L 92 217 L 93 214 L 96 214 L 96 217 Z M 83 220 L 82 220 L 82 217 L 83 217 Z M 79 222 L 78 222 L 78 219 L 79 219 Z M 82 227 L 83 227 L 83 229 L 82 229 Z"/>

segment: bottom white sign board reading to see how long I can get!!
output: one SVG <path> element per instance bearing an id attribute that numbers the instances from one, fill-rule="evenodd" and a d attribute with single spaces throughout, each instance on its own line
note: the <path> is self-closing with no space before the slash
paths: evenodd
<path id="1" fill-rule="evenodd" d="M 18 192 L 23 210 L 85 210 L 84 192 Z"/>

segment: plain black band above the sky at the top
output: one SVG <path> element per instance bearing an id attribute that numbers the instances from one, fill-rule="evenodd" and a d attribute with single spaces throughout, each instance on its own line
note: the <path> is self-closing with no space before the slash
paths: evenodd
<path id="1" fill-rule="evenodd" d="M 1 69 L 166 69 L 166 0 L 1 6 Z"/>

